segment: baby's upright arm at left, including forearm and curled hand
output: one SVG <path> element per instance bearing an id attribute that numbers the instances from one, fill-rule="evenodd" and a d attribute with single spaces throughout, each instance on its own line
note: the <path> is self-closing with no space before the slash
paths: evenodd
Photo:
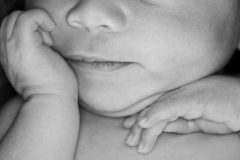
<path id="1" fill-rule="evenodd" d="M 79 130 L 77 81 L 49 47 L 52 41 L 47 35 L 54 28 L 40 9 L 15 11 L 1 24 L 1 64 L 24 99 L 1 140 L 1 160 L 74 159 Z"/>

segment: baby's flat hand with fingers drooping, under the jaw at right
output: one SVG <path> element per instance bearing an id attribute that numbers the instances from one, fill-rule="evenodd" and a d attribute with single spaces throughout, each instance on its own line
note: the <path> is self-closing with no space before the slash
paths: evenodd
<path id="1" fill-rule="evenodd" d="M 129 117 L 126 139 L 150 152 L 162 132 L 228 134 L 240 130 L 240 80 L 211 76 L 167 92 L 140 114 Z"/>

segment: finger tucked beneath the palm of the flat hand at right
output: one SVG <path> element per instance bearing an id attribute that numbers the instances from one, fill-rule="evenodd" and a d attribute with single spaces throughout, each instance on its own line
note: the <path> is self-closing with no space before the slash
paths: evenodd
<path id="1" fill-rule="evenodd" d="M 194 120 L 185 120 L 182 118 L 179 118 L 176 121 L 169 122 L 164 129 L 164 132 L 179 134 L 188 134 L 200 131 L 201 129 Z"/>

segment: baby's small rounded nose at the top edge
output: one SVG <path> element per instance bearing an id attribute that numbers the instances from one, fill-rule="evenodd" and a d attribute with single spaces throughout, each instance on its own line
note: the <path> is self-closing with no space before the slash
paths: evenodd
<path id="1" fill-rule="evenodd" d="M 80 0 L 67 15 L 67 22 L 75 28 L 90 32 L 119 32 L 126 25 L 126 16 L 112 0 Z"/>

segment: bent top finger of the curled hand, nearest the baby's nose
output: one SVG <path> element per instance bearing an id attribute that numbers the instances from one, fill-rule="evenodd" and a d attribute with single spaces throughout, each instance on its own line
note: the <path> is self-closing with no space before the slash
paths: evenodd
<path id="1" fill-rule="evenodd" d="M 25 41 L 29 39 L 31 33 L 35 33 L 39 28 L 45 32 L 51 32 L 55 29 L 55 24 L 45 11 L 29 10 L 19 15 L 13 36 L 21 37 Z"/>

